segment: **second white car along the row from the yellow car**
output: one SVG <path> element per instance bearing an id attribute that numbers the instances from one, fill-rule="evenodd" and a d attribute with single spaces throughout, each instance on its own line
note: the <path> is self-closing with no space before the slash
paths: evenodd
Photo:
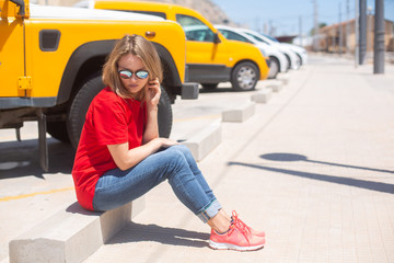
<path id="1" fill-rule="evenodd" d="M 259 42 L 264 42 L 267 43 L 268 45 L 271 46 L 276 46 L 280 49 L 280 52 L 282 52 L 285 54 L 285 56 L 288 58 L 288 61 L 290 62 L 290 68 L 291 69 L 299 69 L 301 66 L 301 59 L 300 57 L 291 49 L 289 48 L 287 45 L 282 45 L 282 43 L 279 43 L 278 41 L 276 41 L 275 38 L 273 39 L 271 37 L 264 35 L 264 34 L 259 34 L 255 31 L 251 31 L 251 30 L 242 30 L 245 34 L 254 37 L 256 41 Z"/>

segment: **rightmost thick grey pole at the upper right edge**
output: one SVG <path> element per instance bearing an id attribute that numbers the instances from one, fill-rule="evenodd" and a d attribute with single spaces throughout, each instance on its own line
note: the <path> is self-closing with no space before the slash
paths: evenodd
<path id="1" fill-rule="evenodd" d="M 384 2 L 375 0 L 373 73 L 384 73 Z"/>

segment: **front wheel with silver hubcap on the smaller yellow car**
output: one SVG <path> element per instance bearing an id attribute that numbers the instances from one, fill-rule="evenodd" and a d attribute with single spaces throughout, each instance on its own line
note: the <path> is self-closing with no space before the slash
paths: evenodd
<path id="1" fill-rule="evenodd" d="M 259 71 L 253 62 L 240 62 L 231 72 L 231 84 L 236 91 L 253 90 L 258 79 Z"/>

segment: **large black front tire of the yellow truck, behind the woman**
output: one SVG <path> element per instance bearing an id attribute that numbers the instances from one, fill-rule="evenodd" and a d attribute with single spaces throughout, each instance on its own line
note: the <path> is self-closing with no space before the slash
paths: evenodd
<path id="1" fill-rule="evenodd" d="M 89 79 L 79 90 L 72 101 L 67 116 L 67 130 L 70 142 L 74 149 L 81 136 L 82 127 L 85 121 L 88 108 L 99 92 L 104 89 L 101 76 L 94 76 Z M 159 102 L 159 135 L 160 137 L 170 137 L 172 128 L 172 108 L 171 100 L 163 88 Z"/>

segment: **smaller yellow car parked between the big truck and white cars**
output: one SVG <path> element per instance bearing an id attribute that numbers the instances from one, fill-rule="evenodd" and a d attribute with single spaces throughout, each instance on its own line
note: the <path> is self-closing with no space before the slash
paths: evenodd
<path id="1" fill-rule="evenodd" d="M 187 38 L 186 64 L 190 81 L 206 89 L 230 81 L 237 91 L 253 90 L 258 80 L 268 77 L 269 57 L 253 44 L 229 41 L 197 11 L 170 3 L 152 1 L 91 0 L 81 7 L 123 10 L 130 13 L 153 14 L 179 23 Z"/>

